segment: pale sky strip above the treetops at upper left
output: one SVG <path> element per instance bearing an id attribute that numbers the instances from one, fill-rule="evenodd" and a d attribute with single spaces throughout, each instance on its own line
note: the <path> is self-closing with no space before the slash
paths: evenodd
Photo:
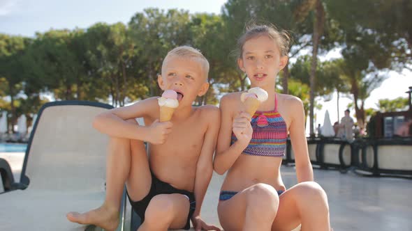
<path id="1" fill-rule="evenodd" d="M 34 36 L 49 29 L 87 28 L 96 22 L 124 22 L 145 8 L 178 8 L 219 14 L 226 0 L 0 0 L 0 33 Z"/>

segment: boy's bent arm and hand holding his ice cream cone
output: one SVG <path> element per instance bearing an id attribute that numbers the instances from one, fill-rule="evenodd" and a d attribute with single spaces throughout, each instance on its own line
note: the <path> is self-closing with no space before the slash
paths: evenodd
<path id="1" fill-rule="evenodd" d="M 140 141 L 154 141 L 149 137 L 154 134 L 153 130 L 150 132 L 149 127 L 139 126 L 126 120 L 134 120 L 140 117 L 156 118 L 156 115 L 159 115 L 159 104 L 157 97 L 152 97 L 130 106 L 122 106 L 100 113 L 94 118 L 93 127 L 109 136 Z M 162 129 L 167 129 L 165 127 L 171 127 L 171 124 L 170 122 L 163 122 L 157 125 L 157 127 L 159 128 L 157 130 L 161 131 Z M 157 141 L 154 143 L 157 143 Z"/>

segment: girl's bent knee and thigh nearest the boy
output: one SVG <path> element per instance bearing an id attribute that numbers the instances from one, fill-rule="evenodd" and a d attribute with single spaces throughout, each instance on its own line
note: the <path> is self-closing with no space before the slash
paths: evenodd
<path id="1" fill-rule="evenodd" d="M 270 230 L 277 214 L 279 197 L 268 184 L 255 184 L 229 200 L 219 201 L 223 230 Z"/>

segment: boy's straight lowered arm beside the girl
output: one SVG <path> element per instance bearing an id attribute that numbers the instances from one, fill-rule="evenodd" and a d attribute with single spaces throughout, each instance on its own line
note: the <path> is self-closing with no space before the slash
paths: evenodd
<path id="1" fill-rule="evenodd" d="M 207 106 L 209 107 L 209 106 Z M 202 150 L 196 166 L 194 194 L 196 198 L 196 209 L 192 216 L 192 222 L 196 216 L 200 216 L 200 209 L 202 207 L 203 199 L 207 186 L 209 186 L 210 179 L 213 173 L 213 153 L 216 148 L 217 134 L 220 127 L 220 112 L 216 107 L 210 106 L 207 110 L 207 132 L 203 141 Z M 194 222 L 193 222 L 194 225 Z"/>

